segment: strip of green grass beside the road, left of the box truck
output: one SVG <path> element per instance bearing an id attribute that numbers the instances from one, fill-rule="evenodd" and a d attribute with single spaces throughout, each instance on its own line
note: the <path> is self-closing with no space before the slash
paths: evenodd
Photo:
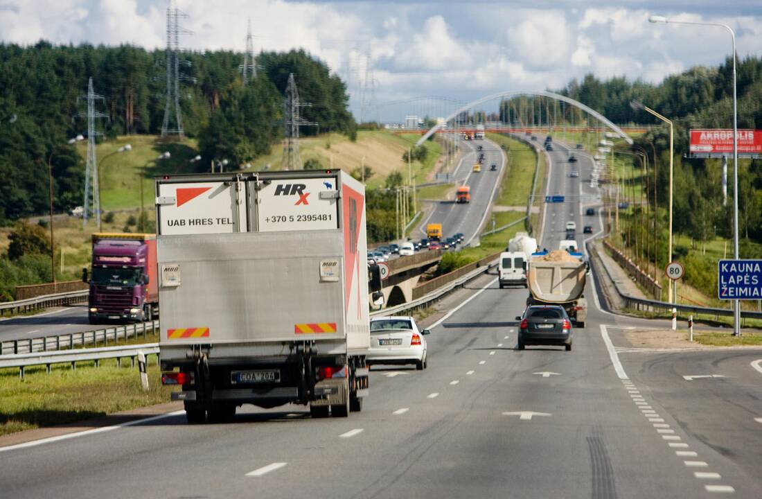
<path id="1" fill-rule="evenodd" d="M 156 357 L 149 357 L 149 390 L 140 385 L 137 364 L 130 360 L 101 360 L 54 365 L 50 374 L 45 366 L 29 367 L 24 379 L 18 369 L 0 369 L 0 435 L 51 427 L 104 416 L 169 401 L 171 388 L 162 386 Z"/>

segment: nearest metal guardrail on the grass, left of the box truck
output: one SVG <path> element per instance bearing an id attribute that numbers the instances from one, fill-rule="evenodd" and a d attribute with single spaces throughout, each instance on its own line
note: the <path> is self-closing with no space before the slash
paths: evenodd
<path id="1" fill-rule="evenodd" d="M 50 374 L 52 364 L 71 363 L 72 370 L 76 369 L 76 363 L 84 361 L 94 361 L 98 367 L 99 362 L 104 359 L 117 359 L 117 366 L 121 366 L 121 360 L 130 358 L 133 367 L 135 366 L 135 357 L 142 352 L 148 356 L 156 356 L 156 365 L 158 365 L 158 343 L 146 343 L 139 345 L 122 345 L 119 347 L 85 348 L 82 350 L 61 350 L 59 352 L 39 353 L 19 353 L 18 355 L 7 355 L 0 358 L 0 368 L 18 367 L 18 376 L 24 379 L 24 368 L 29 366 L 47 367 L 47 373 Z"/>

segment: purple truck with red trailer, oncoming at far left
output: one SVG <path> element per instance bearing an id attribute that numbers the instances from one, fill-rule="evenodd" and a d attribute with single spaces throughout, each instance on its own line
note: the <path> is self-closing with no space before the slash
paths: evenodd
<path id="1" fill-rule="evenodd" d="M 149 321 L 158 315 L 156 236 L 93 234 L 89 284 L 90 324 Z"/>

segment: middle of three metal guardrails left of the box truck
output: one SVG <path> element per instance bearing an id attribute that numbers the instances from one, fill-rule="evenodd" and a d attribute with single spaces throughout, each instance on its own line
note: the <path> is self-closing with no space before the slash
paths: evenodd
<path id="1" fill-rule="evenodd" d="M 147 321 L 98 329 L 95 331 L 80 331 L 78 333 L 56 334 L 54 336 L 2 341 L 0 342 L 0 359 L 5 359 L 6 355 L 61 350 L 62 348 L 81 347 L 86 344 L 94 344 L 97 347 L 101 342 L 104 347 L 107 347 L 109 341 L 116 342 L 120 338 L 136 338 L 139 334 L 142 334 L 142 337 L 145 338 L 148 331 L 153 332 L 157 328 L 158 321 Z"/>

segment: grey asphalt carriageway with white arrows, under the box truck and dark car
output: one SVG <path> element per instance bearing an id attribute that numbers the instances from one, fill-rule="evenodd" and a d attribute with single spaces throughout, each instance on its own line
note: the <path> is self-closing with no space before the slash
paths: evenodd
<path id="1" fill-rule="evenodd" d="M 573 194 L 564 152 L 549 190 Z M 581 158 L 581 179 L 591 163 Z M 586 183 L 586 182 L 585 182 Z M 549 205 L 542 245 L 579 206 Z M 552 215 L 555 213 L 555 217 Z M 588 217 L 597 218 L 597 217 Z M 596 226 L 600 229 L 600 226 Z M 596 229 L 596 230 L 597 230 Z M 444 303 L 429 369 L 374 366 L 361 413 L 246 407 L 0 449 L 3 497 L 762 497 L 760 350 L 627 348 L 589 299 L 574 348 L 514 350 L 526 290 L 494 275 Z M 593 296 L 588 282 L 587 296 Z M 463 302 L 468 297 L 467 302 Z M 462 305 L 461 305 L 462 304 Z M 762 360 L 760 360 L 762 363 Z M 685 379 L 684 376 L 712 376 Z M 722 376 L 722 377 L 719 377 Z"/>

